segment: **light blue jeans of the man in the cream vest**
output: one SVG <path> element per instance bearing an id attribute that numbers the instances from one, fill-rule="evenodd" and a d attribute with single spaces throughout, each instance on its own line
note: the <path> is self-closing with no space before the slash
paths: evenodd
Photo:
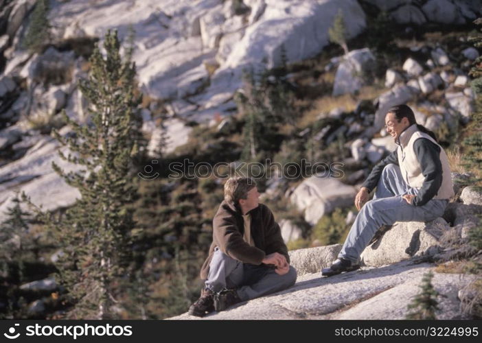
<path id="1" fill-rule="evenodd" d="M 383 171 L 373 200 L 367 202 L 349 230 L 338 257 L 359 263 L 360 255 L 382 225 L 395 222 L 430 222 L 444 214 L 448 200 L 429 200 L 413 206 L 402 196 L 417 195 L 418 189 L 407 185 L 398 165 L 389 164 Z"/>

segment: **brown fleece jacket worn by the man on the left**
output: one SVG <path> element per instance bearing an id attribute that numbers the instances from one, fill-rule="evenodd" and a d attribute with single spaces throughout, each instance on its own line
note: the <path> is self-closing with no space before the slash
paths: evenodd
<path id="1" fill-rule="evenodd" d="M 214 254 L 216 246 L 233 259 L 242 263 L 260 265 L 266 255 L 279 252 L 290 262 L 288 248 L 284 244 L 279 225 L 270 209 L 260 204 L 249 211 L 251 214 L 251 237 L 255 246 L 250 246 L 243 239 L 244 222 L 239 206 L 232 202 L 223 201 L 214 215 L 213 220 L 213 242 L 209 248 L 209 256 L 200 270 L 200 278 L 207 279 L 209 263 Z"/>

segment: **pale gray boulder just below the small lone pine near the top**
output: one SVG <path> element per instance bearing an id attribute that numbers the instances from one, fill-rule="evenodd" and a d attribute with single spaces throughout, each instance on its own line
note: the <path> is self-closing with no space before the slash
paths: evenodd
<path id="1" fill-rule="evenodd" d="M 355 93 L 369 79 L 374 69 L 375 57 L 368 48 L 350 51 L 336 70 L 333 96 Z"/>

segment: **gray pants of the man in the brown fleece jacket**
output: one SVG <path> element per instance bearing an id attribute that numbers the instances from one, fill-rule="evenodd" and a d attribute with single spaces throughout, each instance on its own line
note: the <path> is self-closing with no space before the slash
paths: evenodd
<path id="1" fill-rule="evenodd" d="M 216 248 L 209 263 L 206 287 L 214 292 L 237 288 L 240 299 L 246 301 L 291 287 L 295 284 L 296 276 L 292 266 L 286 274 L 279 275 L 264 264 L 242 263 Z"/>

